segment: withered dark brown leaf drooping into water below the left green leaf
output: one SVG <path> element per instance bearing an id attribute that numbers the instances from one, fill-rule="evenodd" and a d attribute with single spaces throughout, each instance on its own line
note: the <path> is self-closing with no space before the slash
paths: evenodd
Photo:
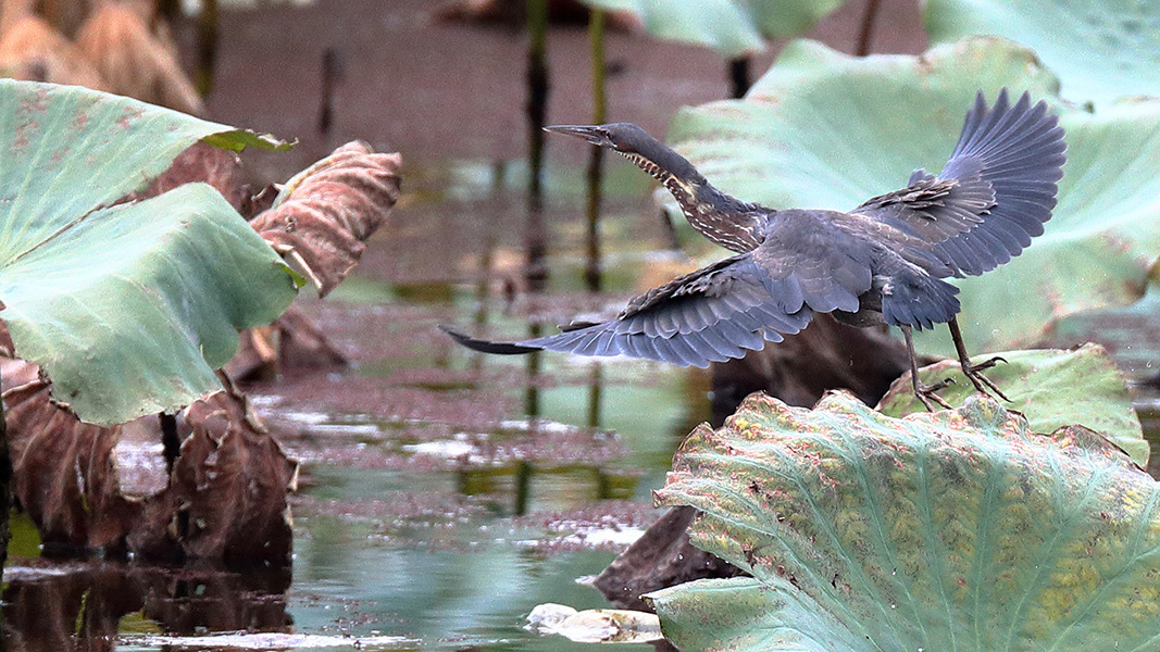
<path id="1" fill-rule="evenodd" d="M 6 384 L 28 375 L 27 367 L 5 367 Z M 45 546 L 288 564 L 287 494 L 296 486 L 297 463 L 224 376 L 223 383 L 226 391 L 180 415 L 187 433 L 181 455 L 167 483 L 145 491 L 126 483 L 138 470 L 118 465 L 117 444 L 132 428 L 146 428 L 160 441 L 157 418 L 104 428 L 50 401 L 43 378 L 6 391 L 13 492 Z M 139 463 L 135 458 L 135 466 Z"/>

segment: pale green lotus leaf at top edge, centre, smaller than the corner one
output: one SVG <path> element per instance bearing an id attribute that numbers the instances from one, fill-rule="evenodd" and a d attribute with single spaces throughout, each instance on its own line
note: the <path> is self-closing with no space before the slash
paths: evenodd
<path id="1" fill-rule="evenodd" d="M 581 0 L 596 9 L 629 12 L 655 38 L 712 48 L 725 57 L 766 49 L 764 38 L 810 30 L 846 0 Z"/>

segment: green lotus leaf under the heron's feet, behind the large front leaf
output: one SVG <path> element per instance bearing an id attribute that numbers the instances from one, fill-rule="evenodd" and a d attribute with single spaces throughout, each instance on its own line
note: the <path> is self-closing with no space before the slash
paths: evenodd
<path id="1" fill-rule="evenodd" d="M 1007 362 L 985 374 L 1012 399 L 1003 405 L 1027 416 L 1031 432 L 1083 426 L 1111 440 L 1140 466 L 1147 465 L 1148 442 L 1140 418 L 1132 408 L 1124 376 L 1103 347 L 1085 345 L 1076 350 L 1032 349 L 998 355 Z M 978 356 L 974 362 L 989 357 Z M 927 384 L 954 379 L 955 384 L 940 392 L 951 405 L 962 405 L 974 393 L 958 362 L 947 360 L 919 369 L 919 378 Z M 926 412 L 911 391 L 909 375 L 891 385 L 877 410 L 891 416 Z"/>

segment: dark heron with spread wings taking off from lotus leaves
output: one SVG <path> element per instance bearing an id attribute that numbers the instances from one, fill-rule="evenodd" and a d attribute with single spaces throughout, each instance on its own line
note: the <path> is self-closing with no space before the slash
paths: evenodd
<path id="1" fill-rule="evenodd" d="M 628 355 L 706 367 L 741 357 L 805 328 L 814 312 L 847 324 L 898 326 L 911 379 L 927 408 L 947 381 L 918 381 L 912 328 L 948 324 L 963 372 L 980 392 L 1007 397 L 971 364 L 951 276 L 980 275 L 1018 255 L 1043 233 L 1063 178 L 1064 130 L 1044 102 L 1007 90 L 987 107 L 980 92 L 950 160 L 936 176 L 919 169 L 906 188 L 849 212 L 775 210 L 713 188 L 683 157 L 635 124 L 549 126 L 625 155 L 673 194 L 689 223 L 737 255 L 648 290 L 603 323 L 567 326 L 519 342 L 458 342 L 493 354 L 554 350 Z"/>

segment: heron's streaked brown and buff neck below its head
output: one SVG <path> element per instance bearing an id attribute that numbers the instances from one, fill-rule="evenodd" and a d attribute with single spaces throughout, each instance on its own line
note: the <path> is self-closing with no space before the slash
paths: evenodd
<path id="1" fill-rule="evenodd" d="M 745 253 L 763 239 L 767 209 L 713 188 L 681 154 L 657 143 L 648 155 L 624 153 L 637 167 L 660 181 L 694 229 L 726 249 Z"/>

